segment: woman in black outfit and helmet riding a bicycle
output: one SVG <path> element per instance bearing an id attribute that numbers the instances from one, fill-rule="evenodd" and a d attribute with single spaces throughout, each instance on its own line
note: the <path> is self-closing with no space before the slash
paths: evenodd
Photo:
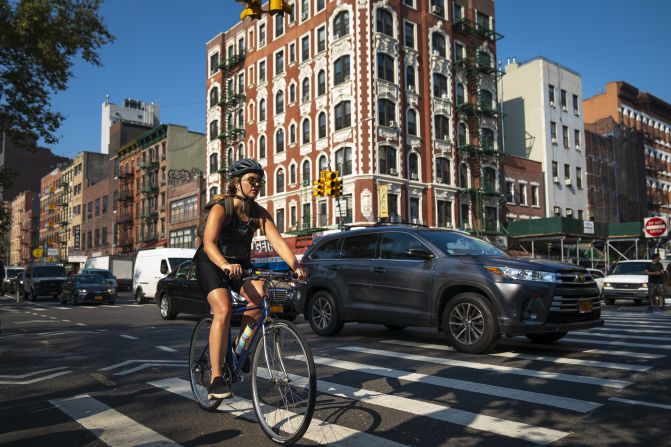
<path id="1" fill-rule="evenodd" d="M 240 293 L 255 305 L 263 300 L 263 281 L 242 282 L 242 272 L 253 268 L 251 245 L 254 233 L 261 229 L 280 257 L 289 265 L 298 279 L 304 279 L 307 271 L 298 264 L 296 256 L 275 226 L 270 213 L 254 200 L 259 188 L 265 184 L 263 167 L 251 158 L 243 158 L 231 165 L 228 171 L 227 192 L 234 197 L 234 213 L 226 222 L 226 210 L 221 204 L 214 205 L 209 212 L 201 242 L 201 249 L 194 258 L 198 281 L 207 294 L 212 309 L 210 329 L 210 362 L 212 383 L 208 388 L 209 399 L 225 399 L 232 396 L 222 378 L 221 363 L 228 349 L 228 334 L 231 321 L 231 290 Z M 261 316 L 261 309 L 247 311 L 241 327 Z"/>

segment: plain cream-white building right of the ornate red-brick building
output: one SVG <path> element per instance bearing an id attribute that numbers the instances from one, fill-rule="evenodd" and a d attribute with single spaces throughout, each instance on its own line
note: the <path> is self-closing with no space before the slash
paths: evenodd
<path id="1" fill-rule="evenodd" d="M 504 150 L 543 165 L 546 216 L 588 220 L 582 78 L 543 57 L 506 65 Z"/>

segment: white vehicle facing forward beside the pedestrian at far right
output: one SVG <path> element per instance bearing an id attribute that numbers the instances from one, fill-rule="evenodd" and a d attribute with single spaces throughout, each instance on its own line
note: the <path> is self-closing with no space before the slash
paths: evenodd
<path id="1" fill-rule="evenodd" d="M 665 259 L 661 261 L 664 271 L 669 265 Z M 636 259 L 618 261 L 609 269 L 608 276 L 603 280 L 601 297 L 608 305 L 615 304 L 616 300 L 634 301 L 641 304 L 648 301 L 648 275 L 645 270 L 650 261 Z"/>

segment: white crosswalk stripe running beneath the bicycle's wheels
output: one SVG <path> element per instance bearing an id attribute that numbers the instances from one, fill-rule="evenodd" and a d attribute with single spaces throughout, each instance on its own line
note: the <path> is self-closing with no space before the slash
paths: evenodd
<path id="1" fill-rule="evenodd" d="M 191 387 L 189 382 L 184 379 L 172 378 L 157 380 L 149 382 L 150 385 L 163 390 L 177 394 L 187 399 L 193 400 Z M 252 401 L 241 397 L 233 397 L 226 399 L 218 408 L 221 411 L 231 414 L 235 417 L 242 417 L 247 420 L 258 422 L 254 412 L 254 405 Z M 358 446 L 372 446 L 372 447 L 402 447 L 403 444 L 380 438 L 365 432 L 353 430 L 342 425 L 333 424 L 322 421 L 317 418 L 312 418 L 310 427 L 303 435 L 304 439 L 318 442 L 320 444 L 335 445 L 340 447 L 358 447 Z"/>

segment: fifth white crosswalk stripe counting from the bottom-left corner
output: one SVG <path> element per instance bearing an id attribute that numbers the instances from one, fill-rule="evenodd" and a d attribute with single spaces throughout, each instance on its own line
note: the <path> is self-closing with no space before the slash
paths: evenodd
<path id="1" fill-rule="evenodd" d="M 435 363 L 438 365 L 455 366 L 458 368 L 470 368 L 480 371 L 505 372 L 526 377 L 537 377 L 541 379 L 561 380 L 565 382 L 584 383 L 587 385 L 607 386 L 611 388 L 626 388 L 632 384 L 626 380 L 601 379 L 598 377 L 579 376 L 575 374 L 562 374 L 550 371 L 537 371 L 533 369 L 515 368 L 505 365 L 493 365 L 488 363 L 467 362 L 463 360 L 451 360 L 446 358 L 430 357 L 427 355 L 410 354 L 407 352 L 384 351 L 381 349 L 369 349 L 360 346 L 343 346 L 338 349 L 363 354 L 381 355 L 386 357 L 403 358 L 418 362 Z"/>

